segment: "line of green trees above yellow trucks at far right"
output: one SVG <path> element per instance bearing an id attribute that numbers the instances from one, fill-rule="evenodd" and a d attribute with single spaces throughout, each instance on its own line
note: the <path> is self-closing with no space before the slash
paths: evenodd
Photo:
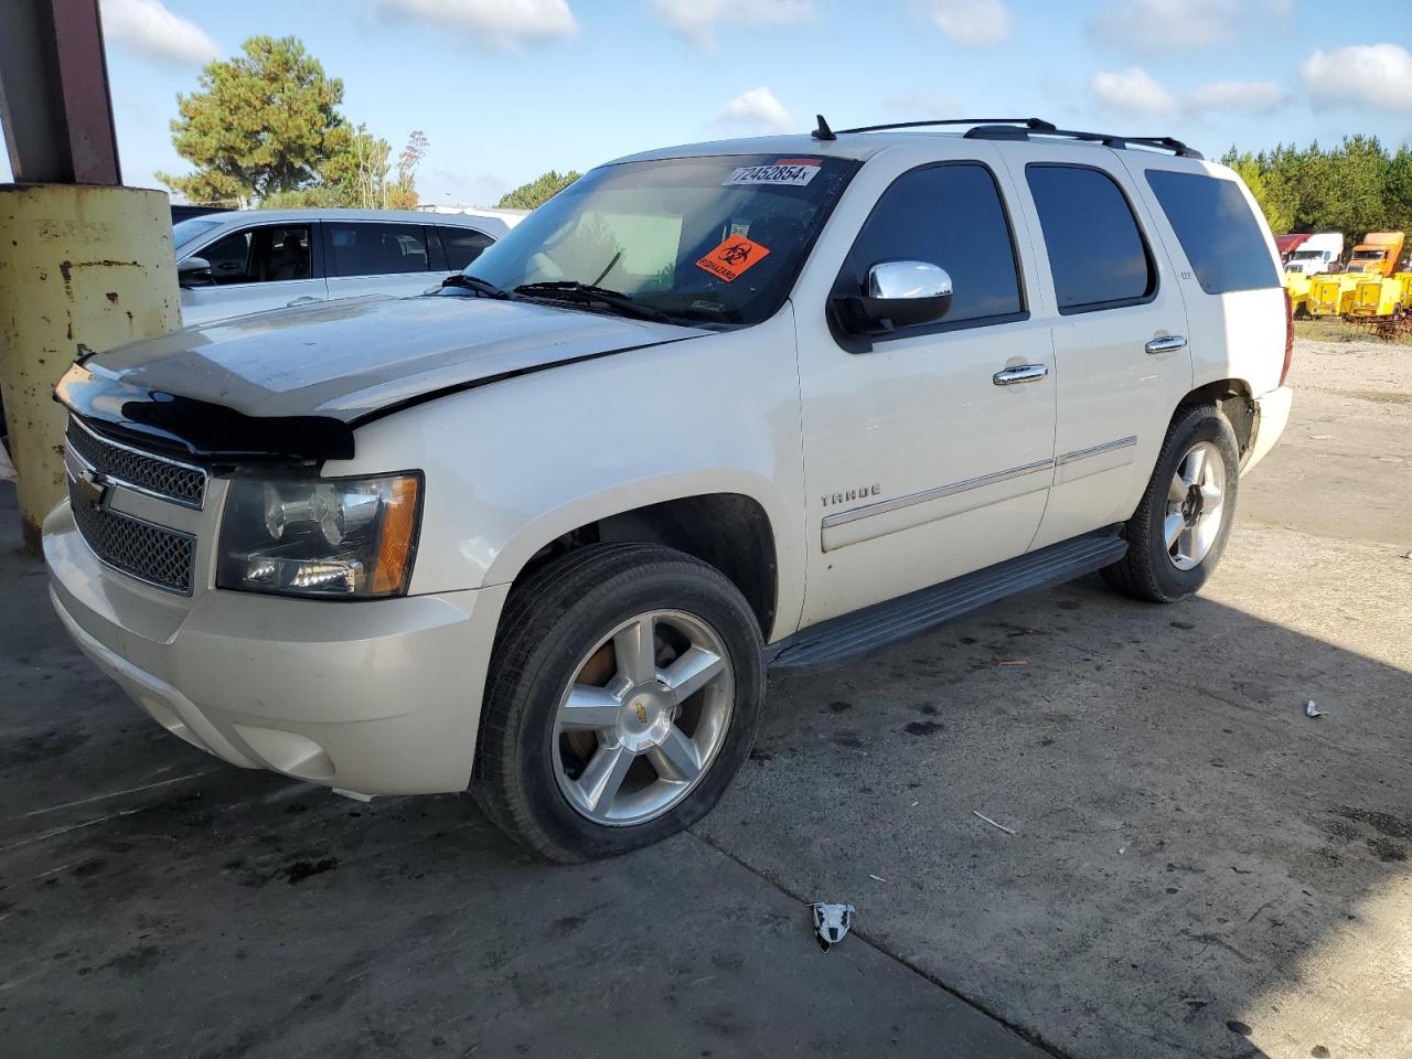
<path id="1" fill-rule="evenodd" d="M 1347 136 L 1269 151 L 1231 147 L 1221 161 L 1236 169 L 1265 213 L 1271 232 L 1412 233 L 1412 148 L 1389 152 L 1375 136 Z"/>

